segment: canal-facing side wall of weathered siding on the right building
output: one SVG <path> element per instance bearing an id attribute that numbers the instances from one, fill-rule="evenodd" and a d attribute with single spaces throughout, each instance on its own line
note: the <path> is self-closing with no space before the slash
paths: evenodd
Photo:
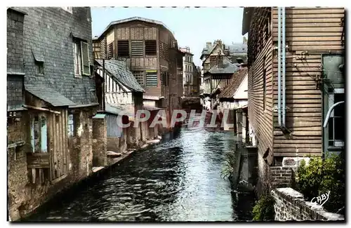
<path id="1" fill-rule="evenodd" d="M 248 74 L 249 121 L 258 138 L 258 153 L 263 156 L 269 150 L 267 156 L 269 163 L 273 159 L 272 52 L 272 37 L 270 37 L 249 67 Z M 263 105 L 263 69 L 266 74 L 265 107 Z"/>

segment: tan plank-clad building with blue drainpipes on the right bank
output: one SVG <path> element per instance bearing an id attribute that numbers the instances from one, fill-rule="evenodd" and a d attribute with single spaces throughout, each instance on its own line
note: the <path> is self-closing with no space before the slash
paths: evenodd
<path id="1" fill-rule="evenodd" d="M 341 152 L 345 107 L 343 8 L 244 8 L 249 33 L 249 123 L 261 185 L 270 166 Z M 295 162 L 296 163 L 296 162 Z"/>

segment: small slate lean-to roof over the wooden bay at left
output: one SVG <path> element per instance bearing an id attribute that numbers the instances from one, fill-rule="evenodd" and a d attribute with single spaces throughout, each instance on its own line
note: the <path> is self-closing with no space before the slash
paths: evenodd
<path id="1" fill-rule="evenodd" d="M 27 84 L 25 85 L 25 90 L 32 93 L 32 95 L 36 96 L 37 98 L 53 105 L 53 107 L 76 105 L 74 102 L 72 102 L 72 100 L 69 100 L 53 88 Z"/>

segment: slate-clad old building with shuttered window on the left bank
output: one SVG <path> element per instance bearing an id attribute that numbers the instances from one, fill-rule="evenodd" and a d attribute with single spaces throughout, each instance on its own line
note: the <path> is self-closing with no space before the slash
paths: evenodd
<path id="1" fill-rule="evenodd" d="M 88 7 L 8 8 L 8 212 L 91 173 L 98 108 Z"/>

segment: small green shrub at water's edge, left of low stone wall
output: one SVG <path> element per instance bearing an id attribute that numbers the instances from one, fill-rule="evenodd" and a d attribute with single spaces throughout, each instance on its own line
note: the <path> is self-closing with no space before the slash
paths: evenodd
<path id="1" fill-rule="evenodd" d="M 253 207 L 254 221 L 271 221 L 274 220 L 274 198 L 270 194 L 260 196 Z"/>

